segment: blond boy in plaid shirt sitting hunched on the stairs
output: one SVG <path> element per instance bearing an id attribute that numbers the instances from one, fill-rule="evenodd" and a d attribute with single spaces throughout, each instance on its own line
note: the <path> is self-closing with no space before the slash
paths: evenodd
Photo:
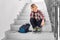
<path id="1" fill-rule="evenodd" d="M 41 31 L 41 27 L 44 26 L 44 16 L 35 4 L 31 5 L 30 23 L 34 31 Z"/>

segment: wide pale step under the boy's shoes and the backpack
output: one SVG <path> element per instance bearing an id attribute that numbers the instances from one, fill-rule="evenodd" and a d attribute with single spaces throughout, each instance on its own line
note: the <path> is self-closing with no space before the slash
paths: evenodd
<path id="1" fill-rule="evenodd" d="M 14 31 L 7 31 L 5 34 L 8 39 L 16 39 L 16 40 L 54 40 L 54 34 L 49 32 L 19 33 Z"/>

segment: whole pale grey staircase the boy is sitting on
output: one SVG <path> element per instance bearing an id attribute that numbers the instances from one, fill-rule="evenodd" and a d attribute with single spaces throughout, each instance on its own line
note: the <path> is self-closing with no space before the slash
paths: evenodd
<path id="1" fill-rule="evenodd" d="M 45 4 L 40 4 L 40 2 L 35 4 L 38 4 L 39 8 L 41 7 L 41 5 L 45 6 Z M 52 31 L 51 23 L 46 9 L 43 10 L 46 22 L 45 22 L 45 26 L 42 27 L 41 33 L 34 33 L 34 32 L 19 33 L 18 32 L 19 27 L 21 25 L 25 23 L 30 23 L 29 22 L 30 5 L 31 3 L 26 3 L 26 5 L 23 7 L 20 14 L 17 15 L 17 19 L 14 19 L 14 23 L 10 25 L 11 29 L 5 32 L 5 38 L 2 40 L 55 40 L 54 33 L 51 32 Z M 33 30 L 32 26 L 30 27 L 30 30 Z"/>

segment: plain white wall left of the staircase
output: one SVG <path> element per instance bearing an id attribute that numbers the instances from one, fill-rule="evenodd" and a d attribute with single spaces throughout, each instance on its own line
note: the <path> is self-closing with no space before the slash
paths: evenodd
<path id="1" fill-rule="evenodd" d="M 10 24 L 19 14 L 22 4 L 19 0 L 0 0 L 0 39 L 4 37 L 5 31 L 10 29 Z"/>

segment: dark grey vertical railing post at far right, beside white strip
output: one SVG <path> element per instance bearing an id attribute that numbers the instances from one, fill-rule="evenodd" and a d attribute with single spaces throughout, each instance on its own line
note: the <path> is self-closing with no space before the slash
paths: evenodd
<path id="1" fill-rule="evenodd" d="M 55 0 L 55 30 L 54 30 L 54 36 L 56 40 L 58 40 L 58 3 Z"/>

